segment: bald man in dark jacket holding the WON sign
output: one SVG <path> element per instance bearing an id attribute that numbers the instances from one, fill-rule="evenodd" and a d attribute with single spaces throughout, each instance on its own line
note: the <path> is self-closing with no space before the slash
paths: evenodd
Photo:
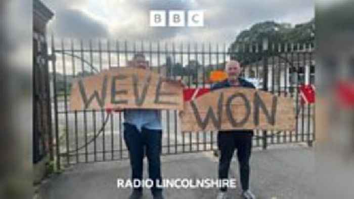
<path id="1" fill-rule="evenodd" d="M 246 87 L 255 89 L 252 83 L 247 82 L 245 79 L 239 77 L 241 66 L 238 61 L 232 60 L 226 64 L 225 71 L 228 73 L 228 78 L 216 83 L 211 87 L 211 90 L 229 88 L 229 87 Z M 253 130 L 232 130 L 232 131 L 219 131 L 217 134 L 217 145 L 220 150 L 219 157 L 219 179 L 229 178 L 230 163 L 237 149 L 237 158 L 240 167 L 240 180 L 242 186 L 243 198 L 254 199 L 254 194 L 249 190 L 249 159 L 252 150 L 252 136 Z M 227 198 L 227 187 L 222 187 L 219 190 L 217 199 Z"/>

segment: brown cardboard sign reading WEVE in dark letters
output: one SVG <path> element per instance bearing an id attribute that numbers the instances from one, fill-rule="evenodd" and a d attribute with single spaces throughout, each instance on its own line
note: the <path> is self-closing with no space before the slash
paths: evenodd
<path id="1" fill-rule="evenodd" d="M 71 110 L 101 108 L 183 109 L 183 88 L 150 70 L 119 67 L 78 78 Z"/>

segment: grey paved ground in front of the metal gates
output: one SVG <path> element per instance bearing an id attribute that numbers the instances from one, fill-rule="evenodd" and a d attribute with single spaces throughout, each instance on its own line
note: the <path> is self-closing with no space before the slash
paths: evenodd
<path id="1" fill-rule="evenodd" d="M 277 147 L 255 150 L 252 154 L 251 189 L 257 198 L 316 198 L 312 148 L 297 145 Z M 217 158 L 211 152 L 163 156 L 162 172 L 164 178 L 216 178 Z M 116 179 L 129 178 L 129 175 L 128 161 L 78 164 L 44 182 L 39 196 L 46 199 L 124 199 L 128 198 L 130 190 L 118 189 Z M 238 179 L 235 159 L 230 177 Z M 167 199 L 211 199 L 216 197 L 216 193 L 215 188 L 169 188 L 164 191 Z M 239 189 L 230 189 L 229 194 L 230 198 L 240 198 Z M 152 198 L 148 190 L 144 191 L 144 198 Z"/>

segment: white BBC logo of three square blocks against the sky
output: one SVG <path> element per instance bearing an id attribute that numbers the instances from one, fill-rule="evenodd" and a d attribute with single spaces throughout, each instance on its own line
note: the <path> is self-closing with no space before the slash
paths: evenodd
<path id="1" fill-rule="evenodd" d="M 167 12 L 165 10 L 150 11 L 150 26 L 151 27 L 184 27 L 186 26 L 186 11 L 184 10 L 169 10 L 168 25 Z M 187 11 L 187 26 L 203 27 L 204 26 L 204 11 L 189 10 Z"/>

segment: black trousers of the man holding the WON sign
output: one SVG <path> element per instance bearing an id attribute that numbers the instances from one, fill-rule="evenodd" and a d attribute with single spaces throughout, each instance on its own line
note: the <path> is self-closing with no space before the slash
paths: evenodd
<path id="1" fill-rule="evenodd" d="M 220 150 L 218 170 L 219 179 L 229 179 L 230 163 L 234 151 L 237 149 L 242 190 L 247 190 L 249 188 L 249 159 L 252 151 L 252 136 L 252 131 L 219 131 L 217 134 L 217 145 Z M 226 191 L 227 187 L 222 187 L 220 190 Z"/>

